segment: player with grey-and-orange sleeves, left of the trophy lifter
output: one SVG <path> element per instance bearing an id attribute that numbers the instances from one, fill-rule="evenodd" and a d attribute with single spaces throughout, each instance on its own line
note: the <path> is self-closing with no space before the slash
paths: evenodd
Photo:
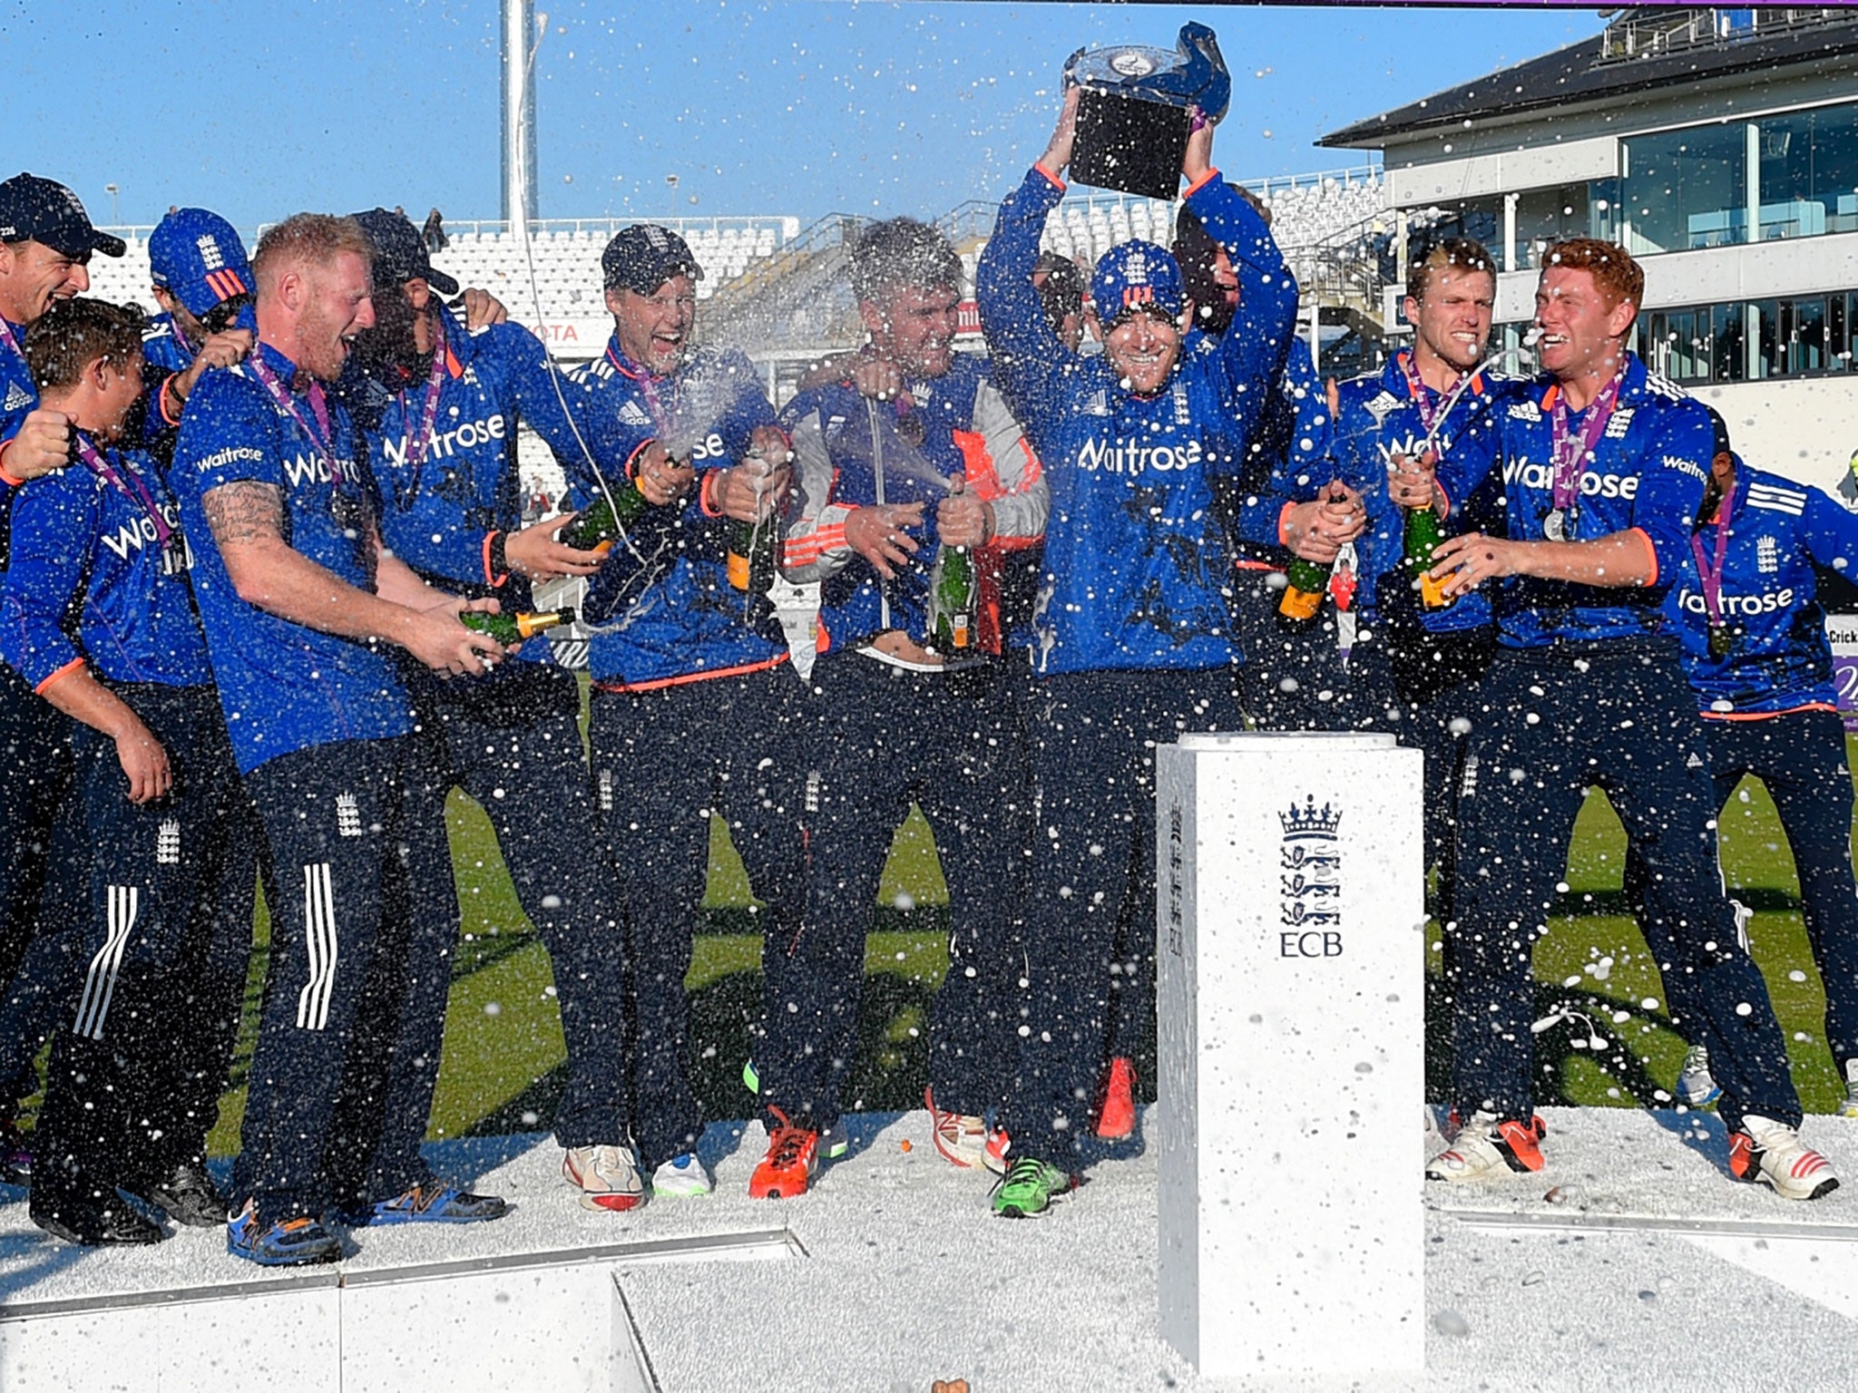
<path id="1" fill-rule="evenodd" d="M 1026 293 L 1044 321 L 1026 267 Z M 797 492 L 784 570 L 819 587 L 805 932 L 769 973 L 760 1046 L 769 1148 L 751 1194 L 793 1196 L 842 1150 L 840 1094 L 857 1053 L 864 938 L 910 804 L 949 890 L 951 968 L 929 1016 L 931 1137 L 979 1168 L 1018 1020 L 1016 914 L 1026 828 L 1024 736 L 1001 659 L 1001 559 L 1037 546 L 1046 487 L 985 360 L 955 351 L 961 258 L 936 228 L 864 230 L 851 286 L 868 344 L 782 412 Z M 966 633 L 933 618 L 935 548 L 966 548 Z M 946 565 L 946 552 L 940 565 Z M 959 565 L 959 563 L 957 563 Z"/>

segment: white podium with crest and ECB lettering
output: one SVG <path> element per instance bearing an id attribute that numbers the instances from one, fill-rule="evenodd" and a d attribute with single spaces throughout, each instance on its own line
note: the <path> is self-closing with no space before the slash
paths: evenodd
<path id="1" fill-rule="evenodd" d="M 1156 750 L 1161 1337 L 1202 1374 L 1425 1363 L 1421 756 Z"/>

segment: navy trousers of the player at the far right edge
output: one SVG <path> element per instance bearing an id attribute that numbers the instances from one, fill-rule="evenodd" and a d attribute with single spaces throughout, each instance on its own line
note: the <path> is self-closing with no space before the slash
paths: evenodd
<path id="1" fill-rule="evenodd" d="M 1800 877 L 1800 918 L 1826 986 L 1826 1046 L 1845 1077 L 1858 1059 L 1858 888 L 1852 882 L 1852 773 L 1845 763 L 1845 723 L 1838 711 L 1786 711 L 1756 721 L 1704 721 L 1709 778 L 1722 817 L 1745 775 L 1767 788 Z M 1644 869 L 1628 860 L 1628 892 L 1644 893 Z M 1687 984 L 1668 984 L 1672 1014 L 1694 1018 Z M 1693 1044 L 1719 1049 L 1698 1031 Z"/>

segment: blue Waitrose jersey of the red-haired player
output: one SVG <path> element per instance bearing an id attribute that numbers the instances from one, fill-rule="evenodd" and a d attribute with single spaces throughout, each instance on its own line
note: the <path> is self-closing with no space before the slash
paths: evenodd
<path id="1" fill-rule="evenodd" d="M 1438 466 L 1449 500 L 1470 498 L 1501 477 L 1503 513 L 1516 540 L 1548 539 L 1555 511 L 1551 412 L 1559 386 L 1538 377 L 1518 384 L 1485 422 L 1460 431 Z M 1570 420 L 1579 433 L 1581 416 Z M 1709 479 L 1715 431 L 1700 401 L 1685 396 L 1639 355 L 1626 355 L 1613 416 L 1585 461 L 1564 540 L 1639 533 L 1652 552 L 1648 585 L 1600 587 L 1507 576 L 1494 598 L 1498 643 L 1544 648 L 1557 641 L 1609 641 L 1663 633 L 1665 594 L 1689 565 L 1696 509 Z"/>

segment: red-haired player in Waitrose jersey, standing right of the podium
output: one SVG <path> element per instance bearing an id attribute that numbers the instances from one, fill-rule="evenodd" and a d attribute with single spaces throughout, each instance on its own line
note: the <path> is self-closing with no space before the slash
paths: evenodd
<path id="1" fill-rule="evenodd" d="M 1626 347 L 1644 273 L 1622 247 L 1563 241 L 1542 266 L 1540 375 L 1488 429 L 1460 433 L 1436 475 L 1410 457 L 1390 475 L 1395 503 L 1447 514 L 1501 477 L 1507 518 L 1503 537 L 1447 539 L 1431 570 L 1447 596 L 1503 585 L 1498 654 L 1466 737 L 1446 929 L 1462 1126 L 1427 1176 L 1544 1165 L 1533 944 L 1559 912 L 1576 814 L 1600 788 L 1648 873 L 1642 929 L 1659 971 L 1689 977 L 1698 1023 L 1678 1029 L 1708 1029 L 1730 1174 L 1813 1200 L 1838 1179 L 1799 1137 L 1787 1048 L 1722 895 L 1704 728 L 1663 615 L 1709 481 L 1709 416 Z"/>

